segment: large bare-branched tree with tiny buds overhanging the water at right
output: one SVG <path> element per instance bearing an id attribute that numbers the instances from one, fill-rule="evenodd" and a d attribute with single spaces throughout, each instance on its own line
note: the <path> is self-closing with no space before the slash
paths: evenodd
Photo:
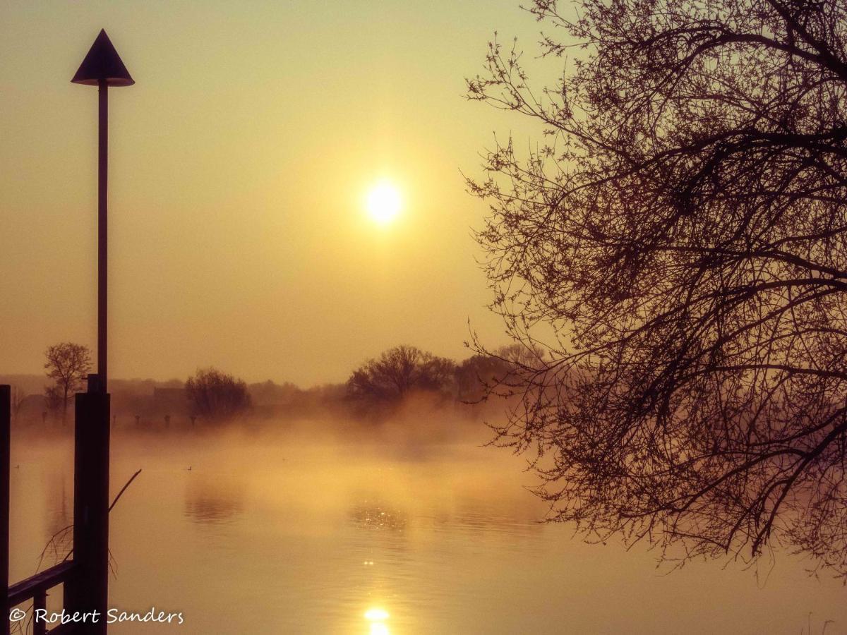
<path id="1" fill-rule="evenodd" d="M 468 180 L 492 306 L 550 353 L 499 442 L 586 537 L 847 576 L 847 5 L 529 10 L 562 79 L 494 41 L 468 81 L 545 139 Z"/>

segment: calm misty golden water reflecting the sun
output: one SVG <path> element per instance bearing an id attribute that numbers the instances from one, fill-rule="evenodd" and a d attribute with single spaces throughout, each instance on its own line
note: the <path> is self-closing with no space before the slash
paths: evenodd
<path id="1" fill-rule="evenodd" d="M 111 604 L 185 623 L 110 632 L 847 633 L 847 589 L 789 555 L 665 575 L 539 522 L 522 462 L 479 439 L 115 435 L 113 492 L 143 472 L 111 514 Z M 72 522 L 71 451 L 14 444 L 13 579 Z"/>

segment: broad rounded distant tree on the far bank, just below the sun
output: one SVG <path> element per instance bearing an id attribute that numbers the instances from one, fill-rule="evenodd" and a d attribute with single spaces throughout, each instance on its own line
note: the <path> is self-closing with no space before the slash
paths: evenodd
<path id="1" fill-rule="evenodd" d="M 414 346 L 396 346 L 353 371 L 347 381 L 351 395 L 399 400 L 412 390 L 452 388 L 456 364 Z"/>

